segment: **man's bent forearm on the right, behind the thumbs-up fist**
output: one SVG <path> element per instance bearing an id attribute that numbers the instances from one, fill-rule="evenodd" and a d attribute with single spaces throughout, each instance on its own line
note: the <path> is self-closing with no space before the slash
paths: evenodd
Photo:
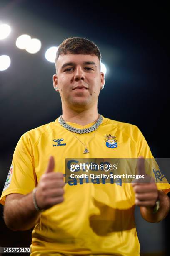
<path id="1" fill-rule="evenodd" d="M 161 190 L 158 191 L 160 199 L 160 209 L 157 213 L 153 213 L 153 207 L 140 206 L 140 213 L 144 220 L 148 222 L 160 222 L 163 220 L 170 210 L 169 197 Z"/>

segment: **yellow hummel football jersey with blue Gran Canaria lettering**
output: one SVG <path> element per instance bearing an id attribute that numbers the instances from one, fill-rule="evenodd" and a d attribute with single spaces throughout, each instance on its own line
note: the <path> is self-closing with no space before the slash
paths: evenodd
<path id="1" fill-rule="evenodd" d="M 94 124 L 67 123 L 80 129 Z M 105 136 L 114 138 L 114 147 L 112 141 L 106 142 Z M 87 144 L 89 153 L 83 154 Z M 73 135 L 56 119 L 21 136 L 0 203 L 5 204 L 8 194 L 30 193 L 45 172 L 51 155 L 55 159 L 55 172 L 63 174 L 67 158 L 153 158 L 143 134 L 135 125 L 103 117 L 97 131 Z M 157 186 L 165 193 L 170 191 L 165 177 Z M 64 201 L 42 212 L 35 224 L 31 256 L 140 255 L 134 219 L 135 194 L 131 184 L 70 182 L 64 190 Z"/>

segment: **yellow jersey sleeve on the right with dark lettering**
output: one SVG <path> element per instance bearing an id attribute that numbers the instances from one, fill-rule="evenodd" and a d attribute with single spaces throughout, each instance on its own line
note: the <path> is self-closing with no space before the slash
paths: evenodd
<path id="1" fill-rule="evenodd" d="M 166 179 L 165 175 L 163 174 L 163 171 L 160 170 L 155 158 L 153 157 L 150 148 L 148 146 L 147 141 L 145 140 L 145 137 L 141 133 L 141 131 L 138 129 L 138 157 L 143 156 L 147 161 L 150 161 L 150 169 L 152 177 L 154 177 L 155 182 L 157 184 L 157 187 L 159 190 L 163 190 L 166 194 L 170 191 L 170 184 L 168 180 Z"/>

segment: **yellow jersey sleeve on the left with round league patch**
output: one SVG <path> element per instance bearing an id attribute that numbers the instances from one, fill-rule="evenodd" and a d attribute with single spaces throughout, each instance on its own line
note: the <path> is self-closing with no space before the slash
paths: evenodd
<path id="1" fill-rule="evenodd" d="M 0 203 L 5 204 L 5 197 L 11 193 L 26 195 L 36 186 L 34 157 L 31 141 L 26 133 L 21 136 L 13 154 L 10 171 L 7 175 Z"/>

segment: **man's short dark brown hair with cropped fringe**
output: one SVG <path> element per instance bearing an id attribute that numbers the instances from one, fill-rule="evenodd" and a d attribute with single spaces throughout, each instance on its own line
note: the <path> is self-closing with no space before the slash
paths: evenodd
<path id="1" fill-rule="evenodd" d="M 99 62 L 102 59 L 99 48 L 92 41 L 82 38 L 82 37 L 70 37 L 65 39 L 58 47 L 55 65 L 57 63 L 57 59 L 61 54 L 90 54 L 96 55 L 99 59 Z"/>

